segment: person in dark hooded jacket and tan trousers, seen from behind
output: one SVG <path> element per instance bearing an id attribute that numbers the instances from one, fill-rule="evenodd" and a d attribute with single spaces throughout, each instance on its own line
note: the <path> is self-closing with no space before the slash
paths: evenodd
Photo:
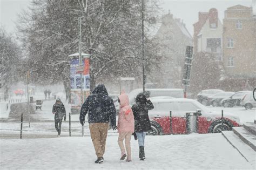
<path id="1" fill-rule="evenodd" d="M 84 118 L 87 113 L 91 139 L 97 155 L 95 163 L 101 164 L 104 160 L 103 154 L 105 152 L 109 121 L 113 130 L 117 128 L 116 108 L 103 84 L 98 85 L 85 100 L 80 111 L 80 123 L 82 126 L 84 125 Z"/>

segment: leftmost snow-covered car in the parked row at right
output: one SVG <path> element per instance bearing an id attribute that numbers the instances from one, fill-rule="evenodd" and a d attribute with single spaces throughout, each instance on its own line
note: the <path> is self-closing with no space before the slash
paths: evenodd
<path id="1" fill-rule="evenodd" d="M 208 106 L 210 105 L 210 101 L 208 100 L 208 97 L 221 92 L 224 92 L 224 91 L 219 89 L 202 90 L 197 94 L 197 101 L 205 106 Z"/>

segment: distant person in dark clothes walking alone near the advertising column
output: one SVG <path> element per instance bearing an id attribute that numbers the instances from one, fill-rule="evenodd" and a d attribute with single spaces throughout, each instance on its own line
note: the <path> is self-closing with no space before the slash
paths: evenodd
<path id="1" fill-rule="evenodd" d="M 55 102 L 55 104 L 52 107 L 52 113 L 54 115 L 55 119 L 55 128 L 58 132 L 58 137 L 60 137 L 60 131 L 62 128 L 62 119 L 64 117 L 64 121 L 66 121 L 66 110 L 65 106 L 63 105 L 62 101 L 58 98 Z"/>

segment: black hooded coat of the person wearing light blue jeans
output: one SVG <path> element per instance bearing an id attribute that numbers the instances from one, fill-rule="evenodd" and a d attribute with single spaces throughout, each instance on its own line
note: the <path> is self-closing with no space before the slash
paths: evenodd
<path id="1" fill-rule="evenodd" d="M 147 132 L 151 130 L 149 110 L 153 108 L 152 102 L 147 100 L 143 93 L 139 93 L 136 97 L 136 104 L 132 105 L 134 132 Z"/>

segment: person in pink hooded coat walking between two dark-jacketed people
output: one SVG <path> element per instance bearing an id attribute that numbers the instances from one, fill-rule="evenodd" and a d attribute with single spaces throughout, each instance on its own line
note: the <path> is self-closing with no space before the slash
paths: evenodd
<path id="1" fill-rule="evenodd" d="M 118 114 L 118 128 L 117 132 L 119 133 L 118 145 L 121 149 L 121 158 L 124 160 L 126 157 L 125 148 L 127 152 L 127 162 L 132 161 L 131 159 L 131 135 L 134 132 L 134 117 L 131 107 L 129 106 L 129 98 L 126 94 L 121 94 L 118 98 L 120 105 L 120 111 Z M 125 139 L 125 148 L 123 140 Z"/>

